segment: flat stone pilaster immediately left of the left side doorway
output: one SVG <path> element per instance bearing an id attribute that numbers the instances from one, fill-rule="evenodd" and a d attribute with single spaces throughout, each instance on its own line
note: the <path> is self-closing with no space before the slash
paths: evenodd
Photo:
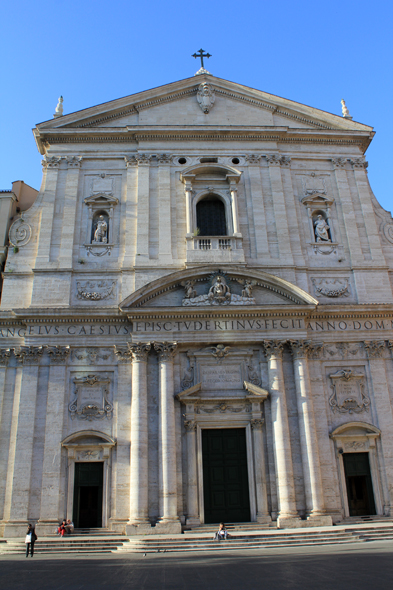
<path id="1" fill-rule="evenodd" d="M 48 397 L 46 404 L 44 460 L 42 466 L 41 509 L 38 530 L 41 535 L 53 533 L 59 520 L 64 518 L 60 505 L 61 441 L 66 393 L 66 361 L 69 346 L 51 346 L 48 355 Z"/>

